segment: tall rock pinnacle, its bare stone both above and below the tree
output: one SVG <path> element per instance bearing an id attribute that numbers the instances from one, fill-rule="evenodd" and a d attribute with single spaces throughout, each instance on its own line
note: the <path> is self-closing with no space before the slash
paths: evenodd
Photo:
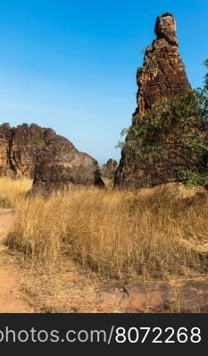
<path id="1" fill-rule="evenodd" d="M 144 64 L 137 70 L 137 109 L 132 125 L 139 125 L 137 117 L 148 113 L 155 103 L 177 97 L 190 89 L 185 66 L 179 56 L 176 21 L 172 14 L 159 16 L 154 31 L 156 39 L 146 48 Z M 177 179 L 177 174 L 170 175 L 166 167 L 144 165 L 132 152 L 124 149 L 114 185 L 134 189 Z"/>

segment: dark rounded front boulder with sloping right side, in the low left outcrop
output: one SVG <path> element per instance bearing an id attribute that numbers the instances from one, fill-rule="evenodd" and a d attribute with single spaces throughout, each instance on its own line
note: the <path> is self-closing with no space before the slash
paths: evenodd
<path id="1" fill-rule="evenodd" d="M 46 147 L 37 152 L 32 191 L 50 193 L 70 183 L 104 187 L 96 160 L 48 130 Z"/>

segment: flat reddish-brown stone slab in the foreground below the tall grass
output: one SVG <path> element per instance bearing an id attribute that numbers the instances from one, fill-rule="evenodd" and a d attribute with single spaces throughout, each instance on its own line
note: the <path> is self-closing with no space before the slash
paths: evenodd
<path id="1" fill-rule="evenodd" d="M 64 281 L 64 286 L 69 279 Z M 143 281 L 135 284 L 89 287 L 88 292 L 65 293 L 58 312 L 79 313 L 207 313 L 205 279 Z M 83 288 L 82 288 L 83 289 Z M 69 289 L 70 290 L 70 289 Z M 72 289 L 73 290 L 73 289 Z M 77 290 L 77 289 L 76 289 Z M 53 308 L 52 308 L 53 309 Z"/>

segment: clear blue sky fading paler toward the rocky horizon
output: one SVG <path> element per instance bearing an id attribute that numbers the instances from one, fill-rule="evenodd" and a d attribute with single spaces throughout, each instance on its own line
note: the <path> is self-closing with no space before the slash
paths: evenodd
<path id="1" fill-rule="evenodd" d="M 7 0 L 0 11 L 0 123 L 52 127 L 101 163 L 136 107 L 156 16 L 178 22 L 193 87 L 208 57 L 208 0 Z"/>

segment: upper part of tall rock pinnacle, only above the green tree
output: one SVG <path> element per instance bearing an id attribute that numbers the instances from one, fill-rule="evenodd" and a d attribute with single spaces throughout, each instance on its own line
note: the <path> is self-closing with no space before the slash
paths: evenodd
<path id="1" fill-rule="evenodd" d="M 157 18 L 154 31 L 157 38 L 146 48 L 144 64 L 137 71 L 137 114 L 146 114 L 156 101 L 190 88 L 171 13 Z"/>

